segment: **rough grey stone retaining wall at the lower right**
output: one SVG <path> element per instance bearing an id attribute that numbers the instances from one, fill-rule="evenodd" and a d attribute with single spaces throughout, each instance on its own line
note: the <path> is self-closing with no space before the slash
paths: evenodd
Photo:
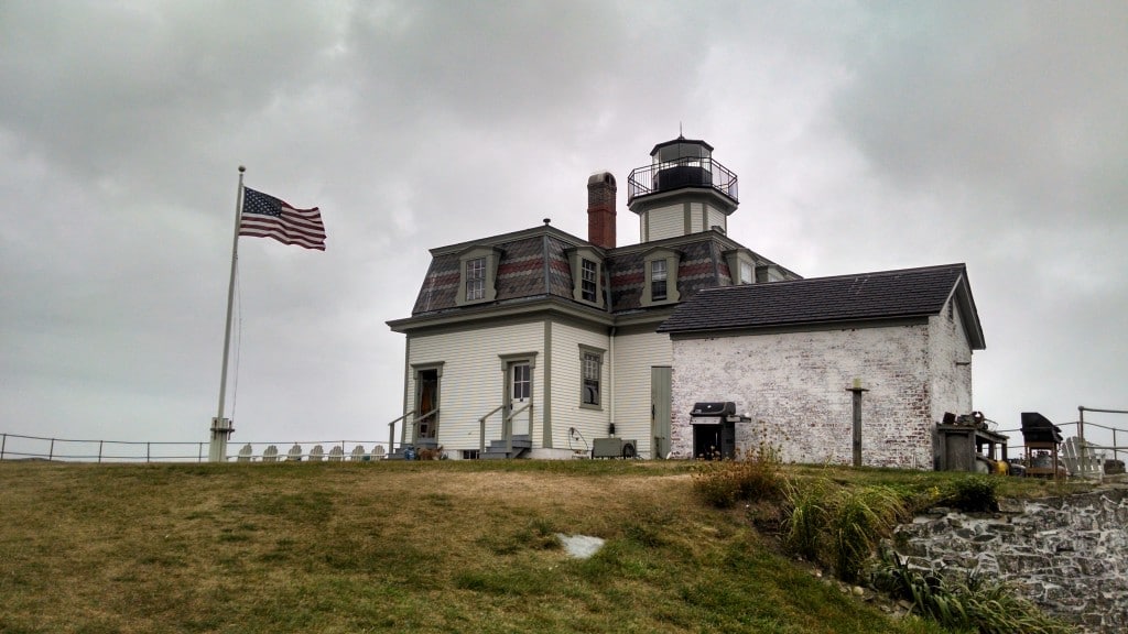
<path id="1" fill-rule="evenodd" d="M 1084 632 L 1128 631 L 1128 487 L 1038 501 L 1002 511 L 936 509 L 897 530 L 909 565 L 966 576 L 977 571 Z"/>

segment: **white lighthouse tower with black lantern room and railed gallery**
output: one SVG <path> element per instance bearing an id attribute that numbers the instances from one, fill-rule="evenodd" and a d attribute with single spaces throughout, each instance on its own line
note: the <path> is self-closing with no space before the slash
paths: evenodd
<path id="1" fill-rule="evenodd" d="M 638 214 L 643 243 L 728 230 L 740 204 L 737 175 L 713 160 L 713 146 L 679 135 L 654 146 L 650 158 L 627 179 L 627 206 Z"/>

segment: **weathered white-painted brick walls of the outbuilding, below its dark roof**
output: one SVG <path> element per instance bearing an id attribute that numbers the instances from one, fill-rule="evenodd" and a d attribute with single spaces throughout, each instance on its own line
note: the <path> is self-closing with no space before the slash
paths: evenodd
<path id="1" fill-rule="evenodd" d="M 733 400 L 752 420 L 737 424 L 742 452 L 765 442 L 778 448 L 785 461 L 851 464 L 853 395 L 846 388 L 856 377 L 870 390 L 862 402 L 863 463 L 931 469 L 938 420 L 933 393 L 970 406 L 971 373 L 970 368 L 931 373 L 929 363 L 954 367 L 952 360 L 964 351 L 967 342 L 945 319 L 676 340 L 673 454 L 688 458 L 693 452 L 694 403 Z"/>

